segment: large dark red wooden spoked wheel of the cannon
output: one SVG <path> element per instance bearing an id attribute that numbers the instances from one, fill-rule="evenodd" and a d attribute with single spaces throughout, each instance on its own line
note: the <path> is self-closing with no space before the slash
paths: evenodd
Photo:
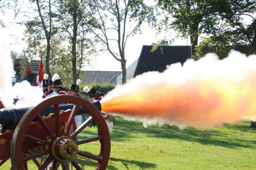
<path id="1" fill-rule="evenodd" d="M 61 113 L 62 105 L 59 105 L 62 103 L 73 104 L 65 123 L 62 119 L 66 113 Z M 52 106 L 54 107 L 54 120 L 53 123 L 49 124 L 40 113 Z M 81 107 L 90 114 L 89 118 L 76 129 L 72 129 L 74 117 Z M 75 140 L 78 134 L 83 133 L 82 131 L 86 128 L 90 128 L 92 122 L 97 125 L 98 134 Z M 40 129 L 43 130 L 40 131 Z M 37 148 L 43 149 L 25 154 L 27 153 L 26 148 L 32 147 L 32 144 L 27 146 L 27 143 L 31 142 Z M 95 152 L 98 155 L 86 152 L 90 150 L 90 144 L 93 142 L 94 145 L 95 142 L 100 145 L 98 146 L 99 151 Z M 87 149 L 85 151 L 79 149 L 82 144 L 86 144 Z M 45 98 L 41 103 L 27 110 L 14 131 L 10 150 L 11 164 L 14 170 L 28 169 L 27 161 L 29 160 L 34 161 L 39 170 L 57 170 L 58 168 L 69 170 L 70 166 L 76 170 L 82 170 L 83 168 L 79 163 L 83 164 L 84 159 L 89 159 L 90 163 L 95 162 L 96 170 L 105 170 L 110 158 L 110 134 L 100 111 L 89 101 L 71 95 L 57 95 Z M 45 157 L 41 164 L 37 161 L 39 157 Z M 76 160 L 77 157 L 79 157 L 78 161 Z"/>

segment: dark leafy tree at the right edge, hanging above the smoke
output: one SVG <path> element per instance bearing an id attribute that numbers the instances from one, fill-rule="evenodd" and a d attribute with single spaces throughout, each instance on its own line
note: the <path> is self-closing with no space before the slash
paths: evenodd
<path id="1" fill-rule="evenodd" d="M 210 37 L 204 37 L 197 46 L 197 58 L 215 52 L 220 59 L 228 56 L 230 49 L 246 54 L 256 53 L 256 1 L 232 1 L 231 8 L 223 11 L 223 23 Z M 245 22 L 244 16 L 247 16 Z"/>

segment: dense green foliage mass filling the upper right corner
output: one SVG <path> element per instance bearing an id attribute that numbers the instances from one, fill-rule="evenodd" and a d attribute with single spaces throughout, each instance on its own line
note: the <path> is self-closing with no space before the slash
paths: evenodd
<path id="1" fill-rule="evenodd" d="M 229 48 L 240 49 L 245 42 L 251 46 L 255 44 L 255 19 L 250 25 L 242 22 L 243 16 L 255 13 L 255 0 L 158 0 L 157 5 L 162 9 L 161 12 L 167 13 L 158 25 L 158 30 L 173 29 L 180 37 L 189 37 L 193 57 L 198 58 L 199 54 L 206 52 L 203 50 L 197 56 L 194 55 L 196 50 L 207 46 L 210 46 L 210 52 L 217 48 L 212 45 L 227 45 L 226 49 L 219 47 L 223 57 Z M 202 34 L 212 38 L 204 38 L 204 45 L 196 48 Z"/>

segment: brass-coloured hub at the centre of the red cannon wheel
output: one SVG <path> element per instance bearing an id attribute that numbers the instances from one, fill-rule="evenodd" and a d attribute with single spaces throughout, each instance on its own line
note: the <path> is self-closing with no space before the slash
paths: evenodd
<path id="1" fill-rule="evenodd" d="M 73 159 L 78 152 L 78 145 L 68 136 L 60 136 L 52 145 L 52 154 L 60 161 Z"/>

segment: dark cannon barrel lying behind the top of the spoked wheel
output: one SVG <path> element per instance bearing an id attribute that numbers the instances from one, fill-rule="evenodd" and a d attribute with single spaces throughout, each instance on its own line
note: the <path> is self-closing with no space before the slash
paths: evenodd
<path id="1" fill-rule="evenodd" d="M 97 107 L 99 111 L 101 111 L 101 103 L 98 100 L 91 102 L 92 105 Z M 15 129 L 18 125 L 21 117 L 26 113 L 26 111 L 30 107 L 22 107 L 22 108 L 9 108 L 9 109 L 0 109 L 0 126 L 1 129 Z M 68 110 L 72 109 L 73 104 L 60 105 L 60 110 Z M 46 108 L 44 111 L 40 113 L 41 116 L 48 116 L 50 113 L 54 113 L 54 106 Z M 82 107 L 79 107 L 77 115 L 87 114 L 88 112 L 84 110 Z"/>

